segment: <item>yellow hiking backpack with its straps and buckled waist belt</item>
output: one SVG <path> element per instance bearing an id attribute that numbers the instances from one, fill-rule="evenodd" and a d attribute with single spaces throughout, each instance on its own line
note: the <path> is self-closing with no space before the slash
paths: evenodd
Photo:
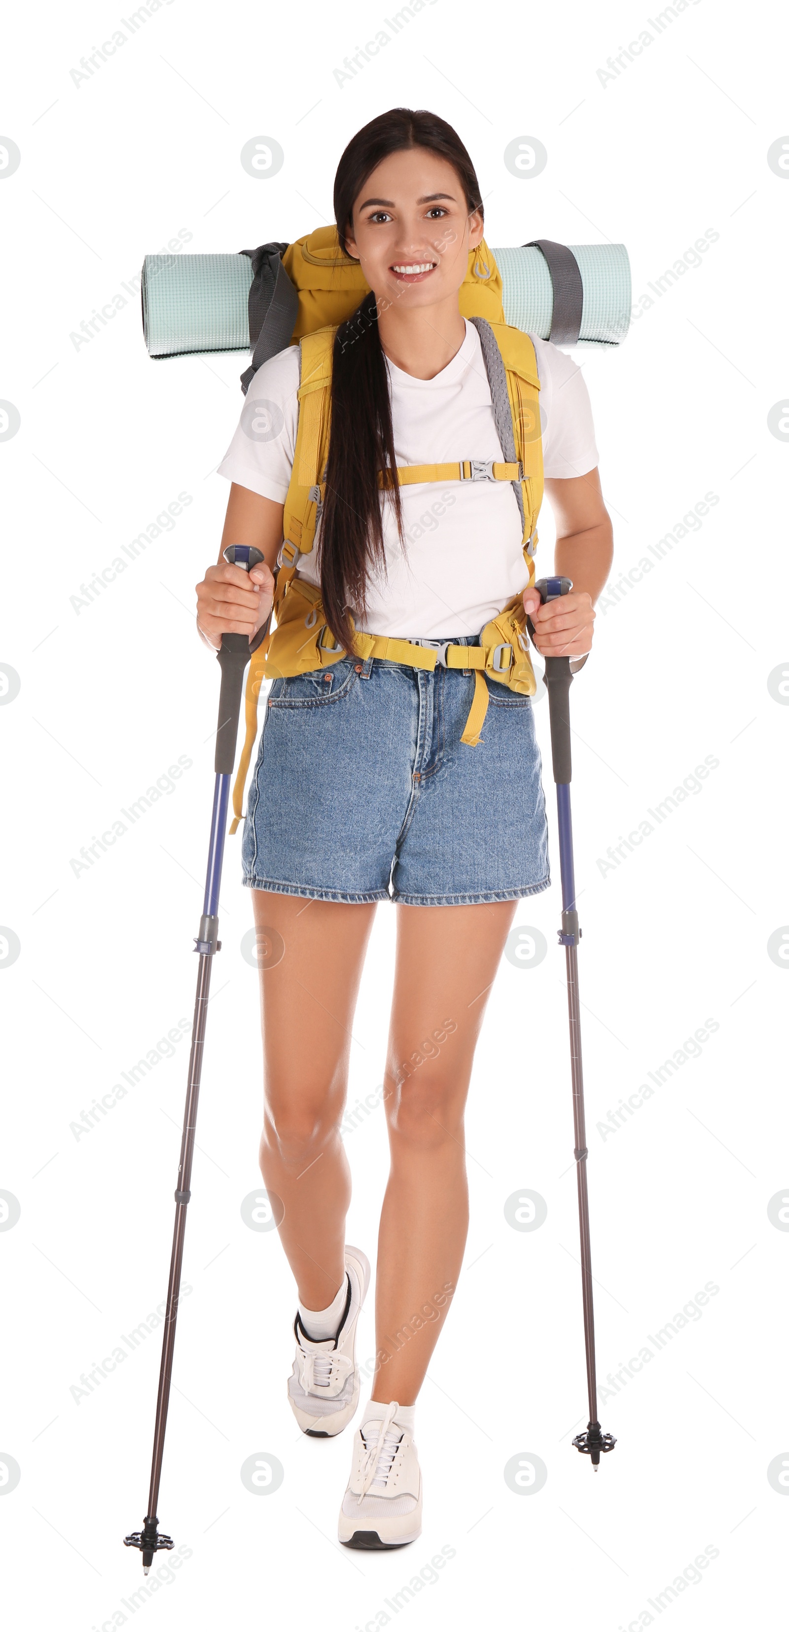
<path id="1" fill-rule="evenodd" d="M 346 656 L 327 627 L 320 589 L 299 579 L 296 570 L 299 557 L 312 550 L 323 499 L 335 333 L 369 292 L 369 286 L 361 269 L 341 255 L 335 227 L 322 227 L 289 245 L 283 255 L 283 266 L 299 294 L 299 312 L 292 330 L 292 338 L 301 343 L 299 424 L 284 501 L 274 627 L 253 653 L 247 677 L 247 738 L 234 787 L 230 832 L 235 832 L 242 818 L 243 785 L 255 747 L 263 679 L 305 674 Z M 400 465 L 397 480 L 402 486 L 418 481 L 511 481 L 523 522 L 523 557 L 528 571 L 523 589 L 526 589 L 534 583 L 537 514 L 542 503 L 537 361 L 529 336 L 505 323 L 501 276 L 485 240 L 469 253 L 459 308 L 480 336 L 493 418 L 505 459 L 480 460 L 474 457 L 474 449 L 457 449 L 457 460 L 451 463 Z M 449 669 L 474 672 L 474 700 L 461 739 L 470 747 L 480 741 L 488 705 L 488 679 L 529 697 L 536 692 L 528 654 L 523 591 L 485 625 L 479 646 L 454 646 L 438 640 L 425 643 L 394 640 L 354 628 L 354 654 L 361 659 L 387 658 L 418 669 L 435 669 L 436 663 L 441 663 Z"/>

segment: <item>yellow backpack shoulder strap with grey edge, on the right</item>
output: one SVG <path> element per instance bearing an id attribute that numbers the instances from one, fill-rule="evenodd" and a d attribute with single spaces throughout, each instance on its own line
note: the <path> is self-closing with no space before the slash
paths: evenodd
<path id="1" fill-rule="evenodd" d="M 529 558 L 537 547 L 537 516 L 542 504 L 542 429 L 539 419 L 539 372 L 529 335 L 510 323 L 469 320 L 479 333 L 482 357 L 493 403 L 493 421 L 506 462 L 518 462 L 523 477 L 513 481 L 523 522 L 523 550 Z"/>

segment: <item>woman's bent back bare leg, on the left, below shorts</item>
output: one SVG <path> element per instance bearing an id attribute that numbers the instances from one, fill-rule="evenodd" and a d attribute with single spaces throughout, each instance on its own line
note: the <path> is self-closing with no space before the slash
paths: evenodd
<path id="1" fill-rule="evenodd" d="M 284 956 L 261 963 L 265 1118 L 260 1170 L 284 1204 L 279 1239 L 299 1301 L 325 1309 L 345 1279 L 351 1198 L 340 1138 L 353 1010 L 374 904 L 252 893 L 258 945 L 274 930 Z"/>

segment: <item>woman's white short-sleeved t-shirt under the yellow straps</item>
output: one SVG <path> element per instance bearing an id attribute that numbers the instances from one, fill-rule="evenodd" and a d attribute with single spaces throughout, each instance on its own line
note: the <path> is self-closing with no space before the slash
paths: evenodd
<path id="1" fill-rule="evenodd" d="M 598 463 L 591 405 L 577 364 L 531 336 L 541 380 L 546 477 L 582 477 Z M 389 362 L 399 465 L 459 459 L 501 460 L 480 338 L 466 339 L 431 380 Z M 288 346 L 255 374 L 219 475 L 284 503 L 299 416 L 299 348 Z M 371 635 L 439 640 L 479 635 L 526 583 L 523 529 L 510 481 L 420 481 L 400 488 L 405 548 L 390 496 L 384 498 L 386 574 L 368 579 L 364 628 Z M 319 529 L 320 535 L 320 529 Z M 320 583 L 315 548 L 299 557 L 299 578 Z"/>

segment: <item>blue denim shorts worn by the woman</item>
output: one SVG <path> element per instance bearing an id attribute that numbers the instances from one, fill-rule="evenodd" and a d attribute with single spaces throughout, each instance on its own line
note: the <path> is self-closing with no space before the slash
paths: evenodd
<path id="1" fill-rule="evenodd" d="M 456 641 L 457 645 L 461 641 Z M 474 674 L 341 658 L 276 679 L 243 826 L 243 883 L 315 901 L 470 906 L 547 889 L 529 697 Z"/>

